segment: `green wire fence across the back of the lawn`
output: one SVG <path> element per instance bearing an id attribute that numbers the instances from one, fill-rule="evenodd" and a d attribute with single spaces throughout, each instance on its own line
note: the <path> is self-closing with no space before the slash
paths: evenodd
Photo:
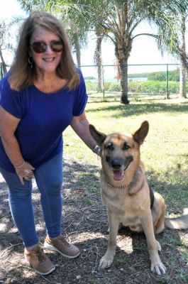
<path id="1" fill-rule="evenodd" d="M 6 65 L 7 70 L 9 67 Z M 81 65 L 79 68 L 86 82 L 89 102 L 120 100 L 121 84 L 117 65 L 102 65 L 100 70 L 96 65 Z M 4 73 L 4 65 L 0 63 L 0 77 Z M 187 78 L 186 92 L 188 93 Z M 128 97 L 139 100 L 178 95 L 179 64 L 128 65 Z"/>

